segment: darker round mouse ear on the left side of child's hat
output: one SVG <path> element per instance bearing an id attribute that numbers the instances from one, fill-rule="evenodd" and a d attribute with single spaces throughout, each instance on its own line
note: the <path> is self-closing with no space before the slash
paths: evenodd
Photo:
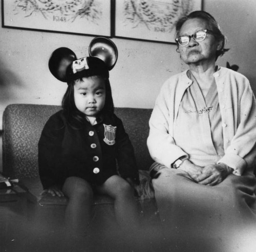
<path id="1" fill-rule="evenodd" d="M 48 63 L 49 69 L 59 81 L 67 82 L 74 60 L 76 60 L 76 55 L 71 49 L 60 47 L 52 53 Z"/>

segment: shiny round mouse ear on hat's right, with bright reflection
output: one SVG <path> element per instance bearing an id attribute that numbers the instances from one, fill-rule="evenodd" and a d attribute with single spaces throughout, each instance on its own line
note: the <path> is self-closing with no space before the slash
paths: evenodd
<path id="1" fill-rule="evenodd" d="M 104 61 L 108 69 L 111 70 L 116 64 L 118 51 L 116 45 L 110 39 L 96 37 L 89 45 L 89 55 Z"/>

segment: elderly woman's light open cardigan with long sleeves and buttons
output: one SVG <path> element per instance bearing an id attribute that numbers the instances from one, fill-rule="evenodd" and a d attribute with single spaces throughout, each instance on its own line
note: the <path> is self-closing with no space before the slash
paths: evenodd
<path id="1" fill-rule="evenodd" d="M 221 67 L 214 73 L 217 85 L 225 155 L 217 163 L 225 163 L 242 175 L 253 172 L 256 157 L 256 102 L 244 75 Z M 150 118 L 147 146 L 152 158 L 167 167 L 181 156 L 189 156 L 175 144 L 173 125 L 185 90 L 193 82 L 187 70 L 169 78 L 161 88 Z M 195 132 L 196 134 L 196 132 Z"/>

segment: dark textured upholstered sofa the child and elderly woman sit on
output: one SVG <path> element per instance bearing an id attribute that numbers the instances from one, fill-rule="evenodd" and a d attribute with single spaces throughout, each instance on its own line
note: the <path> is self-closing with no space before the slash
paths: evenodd
<path id="1" fill-rule="evenodd" d="M 60 106 L 12 104 L 3 114 L 3 174 L 18 179 L 28 189 L 30 201 L 40 206 L 65 206 L 67 198 L 40 195 L 42 185 L 38 175 L 37 143 L 48 118 L 60 110 Z M 141 184 L 137 190 L 137 200 L 143 215 L 155 218 L 157 208 L 154 190 L 148 168 L 153 160 L 146 147 L 148 120 L 151 109 L 116 108 L 115 113 L 123 121 L 135 150 L 137 165 L 140 171 Z M 103 212 L 113 212 L 113 200 L 107 196 L 97 196 L 94 208 Z M 56 207 L 55 207 L 56 208 Z"/>

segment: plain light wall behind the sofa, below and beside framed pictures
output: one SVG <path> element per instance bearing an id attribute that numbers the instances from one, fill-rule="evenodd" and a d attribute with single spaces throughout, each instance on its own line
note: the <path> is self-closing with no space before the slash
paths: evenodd
<path id="1" fill-rule="evenodd" d="M 0 7 L 2 8 L 2 7 Z M 256 92 L 256 1 L 203 0 L 228 38 L 230 51 L 218 60 L 239 65 Z M 2 13 L 2 12 L 1 12 Z M 66 46 L 78 58 L 88 55 L 94 37 L 0 28 L 0 129 L 5 107 L 12 103 L 60 105 L 67 88 L 48 70 L 54 49 Z M 110 72 L 116 107 L 153 108 L 163 82 L 185 70 L 175 44 L 112 38 L 118 61 Z"/>

